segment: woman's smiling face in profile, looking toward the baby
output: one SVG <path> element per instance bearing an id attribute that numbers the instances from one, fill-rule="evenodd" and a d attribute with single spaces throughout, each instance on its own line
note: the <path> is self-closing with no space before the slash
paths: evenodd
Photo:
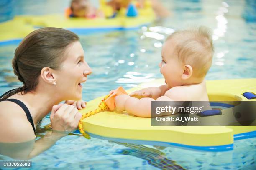
<path id="1" fill-rule="evenodd" d="M 63 100 L 82 99 L 82 83 L 92 69 L 84 60 L 84 50 L 79 41 L 70 44 L 64 52 L 66 60 L 56 72 L 56 94 Z"/>

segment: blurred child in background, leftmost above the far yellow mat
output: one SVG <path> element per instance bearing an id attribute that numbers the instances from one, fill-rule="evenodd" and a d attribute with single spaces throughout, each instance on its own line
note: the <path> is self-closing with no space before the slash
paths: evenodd
<path id="1" fill-rule="evenodd" d="M 90 0 L 72 0 L 70 9 L 72 14 L 70 17 L 96 18 L 104 17 L 102 11 L 92 6 Z"/>

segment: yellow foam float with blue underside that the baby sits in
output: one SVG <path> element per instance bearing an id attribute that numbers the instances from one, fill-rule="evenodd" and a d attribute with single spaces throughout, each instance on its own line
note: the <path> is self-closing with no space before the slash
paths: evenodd
<path id="1" fill-rule="evenodd" d="M 154 80 L 127 92 L 163 84 L 164 79 Z M 256 79 L 210 80 L 207 92 L 209 100 L 248 100 L 242 94 L 256 94 Z M 94 110 L 103 97 L 88 102 L 81 112 Z M 256 137 L 256 126 L 151 126 L 151 118 L 135 117 L 127 112 L 100 112 L 82 120 L 82 125 L 87 133 L 98 138 L 207 151 L 232 150 L 233 140 Z"/>

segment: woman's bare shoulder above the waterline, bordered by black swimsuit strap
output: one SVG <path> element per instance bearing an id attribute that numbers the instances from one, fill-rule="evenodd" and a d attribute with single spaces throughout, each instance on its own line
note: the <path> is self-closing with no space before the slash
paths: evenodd
<path id="1" fill-rule="evenodd" d="M 14 102 L 0 102 L 0 142 L 26 142 L 35 138 L 24 110 Z"/>

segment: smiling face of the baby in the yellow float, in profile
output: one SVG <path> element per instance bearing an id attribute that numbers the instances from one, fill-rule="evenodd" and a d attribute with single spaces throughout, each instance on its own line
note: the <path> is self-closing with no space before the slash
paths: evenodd
<path id="1" fill-rule="evenodd" d="M 174 54 L 174 43 L 167 40 L 162 48 L 162 61 L 159 63 L 160 72 L 164 76 L 165 83 L 169 88 L 182 85 L 182 64 Z"/>

